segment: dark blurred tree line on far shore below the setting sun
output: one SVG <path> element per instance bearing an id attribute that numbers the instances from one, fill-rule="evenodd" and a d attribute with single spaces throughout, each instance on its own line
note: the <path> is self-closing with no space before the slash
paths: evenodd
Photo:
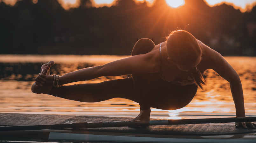
<path id="1" fill-rule="evenodd" d="M 165 0 L 151 7 L 117 0 L 100 8 L 80 0 L 69 10 L 57 0 L 0 3 L 1 54 L 130 55 L 140 38 L 159 44 L 177 28 L 224 56 L 256 56 L 255 7 L 242 13 L 226 4 L 210 7 L 204 0 L 185 0 L 178 8 Z"/>

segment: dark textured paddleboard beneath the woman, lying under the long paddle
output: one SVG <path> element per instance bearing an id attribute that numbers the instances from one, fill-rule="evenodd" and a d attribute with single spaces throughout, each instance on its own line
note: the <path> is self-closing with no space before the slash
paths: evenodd
<path id="1" fill-rule="evenodd" d="M 0 113 L 0 126 L 70 124 L 73 122 L 129 121 L 133 118 Z M 158 119 L 150 119 L 158 120 Z M 246 142 L 256 143 L 256 129 L 235 128 L 234 123 L 106 127 L 82 130 L 0 131 L 0 139 L 86 142 Z"/>

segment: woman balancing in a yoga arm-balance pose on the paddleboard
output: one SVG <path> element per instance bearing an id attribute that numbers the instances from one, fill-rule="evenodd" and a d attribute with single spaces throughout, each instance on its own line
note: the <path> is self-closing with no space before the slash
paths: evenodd
<path id="1" fill-rule="evenodd" d="M 142 38 L 136 42 L 132 56 L 105 65 L 81 69 L 59 77 L 59 88 L 49 69 L 50 61 L 41 68 L 35 78 L 32 92 L 44 93 L 81 102 L 99 102 L 112 98 L 125 98 L 139 103 L 140 114 L 134 120 L 149 120 L 150 107 L 180 109 L 194 98 L 198 86 L 205 85 L 202 74 L 213 69 L 230 83 L 236 116 L 245 117 L 243 90 L 236 71 L 216 51 L 197 40 L 187 31 L 173 31 L 165 42 L 155 45 Z M 76 81 L 90 80 L 101 76 L 132 77 L 104 81 L 97 84 L 63 86 Z M 56 78 L 57 80 L 57 78 Z M 255 128 L 251 122 L 235 123 Z"/>

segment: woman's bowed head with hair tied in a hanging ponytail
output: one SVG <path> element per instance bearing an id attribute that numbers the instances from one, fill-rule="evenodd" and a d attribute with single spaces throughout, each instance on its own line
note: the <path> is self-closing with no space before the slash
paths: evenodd
<path id="1" fill-rule="evenodd" d="M 192 71 L 196 84 L 202 88 L 205 81 L 197 65 L 201 61 L 203 50 L 197 39 L 187 31 L 173 31 L 166 38 L 166 46 L 168 60 L 181 71 Z"/>

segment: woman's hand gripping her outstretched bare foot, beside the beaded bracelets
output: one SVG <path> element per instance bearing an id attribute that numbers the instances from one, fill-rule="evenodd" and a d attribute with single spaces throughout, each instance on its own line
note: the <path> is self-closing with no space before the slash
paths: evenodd
<path id="1" fill-rule="evenodd" d="M 35 80 L 36 80 L 36 85 L 39 88 L 53 86 L 53 75 L 45 75 L 43 73 L 39 73 L 38 77 L 36 77 Z"/>

